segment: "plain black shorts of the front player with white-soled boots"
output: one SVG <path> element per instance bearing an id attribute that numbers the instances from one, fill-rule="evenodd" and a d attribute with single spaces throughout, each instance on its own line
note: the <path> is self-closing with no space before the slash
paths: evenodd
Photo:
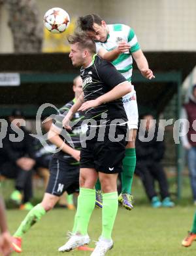
<path id="1" fill-rule="evenodd" d="M 80 168 L 94 168 L 107 174 L 122 172 L 122 160 L 127 145 L 127 125 L 116 126 L 115 135 L 123 135 L 123 139 L 119 142 L 110 141 L 107 134 L 104 141 L 97 141 L 97 136 L 86 140 L 86 148 L 82 148 L 80 154 Z"/>

